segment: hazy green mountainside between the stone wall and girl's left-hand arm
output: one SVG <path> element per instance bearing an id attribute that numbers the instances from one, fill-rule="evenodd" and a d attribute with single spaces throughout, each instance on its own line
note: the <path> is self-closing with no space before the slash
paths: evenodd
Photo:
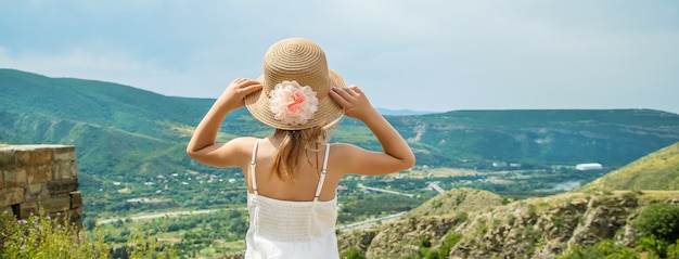
<path id="1" fill-rule="evenodd" d="M 182 138 L 212 103 L 111 82 L 0 69 L 0 141 L 76 145 L 80 171 L 185 171 Z"/>

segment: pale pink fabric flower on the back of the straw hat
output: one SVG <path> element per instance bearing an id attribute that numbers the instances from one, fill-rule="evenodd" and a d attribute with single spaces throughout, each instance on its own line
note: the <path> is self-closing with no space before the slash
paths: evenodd
<path id="1" fill-rule="evenodd" d="M 316 92 L 297 81 L 283 81 L 270 92 L 269 108 L 273 118 L 292 126 L 305 125 L 318 109 Z"/>

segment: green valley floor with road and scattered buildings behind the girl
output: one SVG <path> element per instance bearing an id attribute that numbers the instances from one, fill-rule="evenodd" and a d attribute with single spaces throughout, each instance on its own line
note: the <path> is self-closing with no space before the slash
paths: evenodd
<path id="1" fill-rule="evenodd" d="M 124 242 L 120 236 L 151 232 L 198 255 L 239 252 L 245 245 L 241 235 L 244 232 L 235 234 L 233 231 L 247 225 L 246 190 L 243 178 L 239 177 L 242 174 L 228 171 L 100 182 L 107 187 L 82 184 L 84 195 L 91 200 L 86 203 L 85 225 L 102 231 L 111 244 Z M 433 184 L 444 192 L 457 187 L 484 189 L 501 194 L 510 203 L 561 193 L 566 190 L 546 190 L 561 182 L 584 184 L 605 172 L 604 169 L 578 171 L 575 166 L 484 171 L 417 166 L 383 177 L 346 176 L 337 190 L 337 231 L 364 229 L 399 219 L 439 194 Z M 114 210 L 116 212 L 112 213 Z"/>

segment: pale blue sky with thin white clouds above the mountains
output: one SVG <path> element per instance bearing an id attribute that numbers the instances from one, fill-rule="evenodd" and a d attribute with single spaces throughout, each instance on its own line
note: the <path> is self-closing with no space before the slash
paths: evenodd
<path id="1" fill-rule="evenodd" d="M 216 99 L 305 37 L 388 109 L 679 113 L 676 0 L 0 0 L 0 68 Z"/>

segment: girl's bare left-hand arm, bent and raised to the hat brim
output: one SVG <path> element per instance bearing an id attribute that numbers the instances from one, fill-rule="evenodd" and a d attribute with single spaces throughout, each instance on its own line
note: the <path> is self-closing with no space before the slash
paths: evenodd
<path id="1" fill-rule="evenodd" d="M 225 92 L 217 99 L 205 117 L 195 128 L 191 141 L 187 146 L 187 154 L 203 164 L 215 167 L 238 166 L 234 159 L 235 151 L 240 146 L 238 139 L 227 144 L 216 144 L 217 132 L 227 114 L 245 105 L 245 96 L 261 90 L 261 82 L 238 78 L 233 80 Z"/>

